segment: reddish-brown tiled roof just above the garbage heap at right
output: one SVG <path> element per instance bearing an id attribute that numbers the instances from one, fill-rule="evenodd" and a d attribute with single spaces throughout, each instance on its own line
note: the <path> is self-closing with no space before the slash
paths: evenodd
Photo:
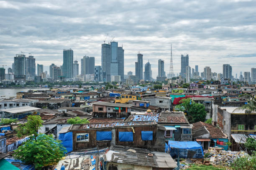
<path id="1" fill-rule="evenodd" d="M 196 122 L 193 124 L 193 130 L 197 130 L 205 126 L 205 128 L 210 132 L 210 138 L 227 138 L 226 135 L 217 127 L 205 123 L 205 122 Z"/>

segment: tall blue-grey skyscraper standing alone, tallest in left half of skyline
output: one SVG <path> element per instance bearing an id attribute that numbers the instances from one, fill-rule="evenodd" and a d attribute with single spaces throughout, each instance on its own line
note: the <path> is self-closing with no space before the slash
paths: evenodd
<path id="1" fill-rule="evenodd" d="M 62 74 L 66 78 L 74 77 L 74 67 L 73 67 L 73 50 L 63 50 L 63 65 L 62 65 Z"/>

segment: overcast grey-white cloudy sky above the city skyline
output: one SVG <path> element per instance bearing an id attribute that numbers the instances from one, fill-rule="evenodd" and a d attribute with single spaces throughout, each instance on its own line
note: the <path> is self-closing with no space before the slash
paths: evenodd
<path id="1" fill-rule="evenodd" d="M 210 66 L 222 73 L 230 64 L 233 75 L 256 67 L 256 1 L 250 0 L 0 0 L 0 64 L 13 63 L 15 54 L 32 53 L 36 63 L 61 65 L 63 49 L 74 59 L 84 54 L 101 65 L 101 44 L 113 37 L 125 50 L 125 74 L 133 71 L 137 53 L 149 60 L 153 77 L 157 60 L 169 73 L 172 43 L 174 73 L 180 55 L 202 72 Z M 44 67 L 49 70 L 49 67 Z"/>

